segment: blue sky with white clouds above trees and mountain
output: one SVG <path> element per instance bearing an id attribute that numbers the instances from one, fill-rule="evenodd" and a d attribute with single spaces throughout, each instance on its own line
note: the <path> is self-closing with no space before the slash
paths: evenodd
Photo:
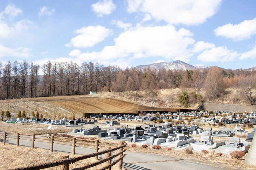
<path id="1" fill-rule="evenodd" d="M 256 66 L 255 0 L 1 0 L 0 61 Z"/>

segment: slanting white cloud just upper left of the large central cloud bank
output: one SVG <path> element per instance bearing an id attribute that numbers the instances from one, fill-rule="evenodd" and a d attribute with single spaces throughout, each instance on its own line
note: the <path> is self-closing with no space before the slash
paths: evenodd
<path id="1" fill-rule="evenodd" d="M 103 41 L 106 37 L 111 35 L 112 30 L 103 26 L 88 26 L 77 29 L 74 33 L 80 34 L 71 39 L 71 42 L 65 44 L 65 47 L 93 47 L 95 44 Z"/>

